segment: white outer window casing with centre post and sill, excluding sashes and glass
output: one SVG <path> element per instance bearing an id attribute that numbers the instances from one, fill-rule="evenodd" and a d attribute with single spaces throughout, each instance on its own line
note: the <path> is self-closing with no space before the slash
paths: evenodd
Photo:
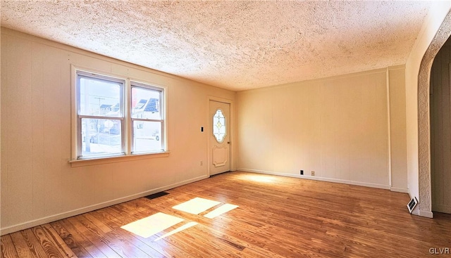
<path id="1" fill-rule="evenodd" d="M 117 156 L 105 156 L 105 157 L 92 157 L 92 158 L 83 158 L 78 159 L 78 140 L 79 140 L 79 134 L 78 134 L 78 115 L 77 115 L 77 72 L 86 72 L 93 75 L 100 75 L 105 77 L 113 77 L 115 79 L 121 79 L 125 81 L 124 87 L 125 90 L 123 92 L 124 96 L 123 99 L 125 101 L 125 105 L 129 105 L 131 103 L 131 84 L 143 84 L 150 87 L 154 87 L 156 89 L 161 89 L 163 92 L 163 104 L 161 105 L 161 110 L 163 110 L 161 114 L 161 118 L 163 120 L 162 124 L 162 131 L 161 137 L 163 140 L 161 142 L 163 151 L 161 152 L 154 152 L 154 153 L 131 153 L 131 141 L 132 141 L 132 125 L 131 118 L 130 118 L 130 108 L 128 106 L 125 106 L 124 110 L 124 137 L 123 137 L 123 145 L 125 154 L 124 155 L 117 155 Z M 168 88 L 167 86 L 156 84 L 154 82 L 146 82 L 143 79 L 135 79 L 130 77 L 125 77 L 124 75 L 117 75 L 109 72 L 104 72 L 96 69 L 92 69 L 89 67 L 81 67 L 78 65 L 71 65 L 71 157 L 68 161 L 71 165 L 71 167 L 82 167 L 82 166 L 89 166 L 89 165 L 101 165 L 101 164 L 108 164 L 113 162 L 124 162 L 129 160 L 142 160 L 142 159 L 148 159 L 148 158 L 154 158 L 154 157 L 168 157 L 169 151 L 168 151 L 168 130 L 167 130 L 167 108 L 168 108 Z"/>

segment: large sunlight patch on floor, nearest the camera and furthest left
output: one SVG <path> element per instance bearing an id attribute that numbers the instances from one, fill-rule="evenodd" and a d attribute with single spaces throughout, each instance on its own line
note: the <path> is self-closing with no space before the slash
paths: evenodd
<path id="1" fill-rule="evenodd" d="M 121 228 L 143 238 L 149 238 L 149 236 L 159 233 L 166 228 L 170 228 L 184 220 L 185 219 L 158 212 L 152 216 L 121 226 Z"/>

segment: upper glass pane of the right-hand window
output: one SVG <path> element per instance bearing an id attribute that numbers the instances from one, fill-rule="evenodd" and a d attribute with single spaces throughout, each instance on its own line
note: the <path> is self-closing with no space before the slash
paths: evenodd
<path id="1" fill-rule="evenodd" d="M 160 91 L 132 87 L 132 118 L 161 120 Z"/>

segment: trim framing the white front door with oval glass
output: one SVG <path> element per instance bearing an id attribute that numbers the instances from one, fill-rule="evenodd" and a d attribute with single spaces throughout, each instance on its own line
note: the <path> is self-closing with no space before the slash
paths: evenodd
<path id="1" fill-rule="evenodd" d="M 210 123 L 210 101 L 216 101 L 216 102 L 222 102 L 227 103 L 230 105 L 230 118 L 229 118 L 229 136 L 230 136 L 230 171 L 236 170 L 235 165 L 235 153 L 236 153 L 236 144 L 235 144 L 235 101 L 228 99 L 228 98 L 220 98 L 216 96 L 206 96 L 206 175 L 210 176 L 210 166 L 211 166 L 211 160 L 210 160 L 210 141 L 209 136 L 211 132 L 211 123 Z"/>

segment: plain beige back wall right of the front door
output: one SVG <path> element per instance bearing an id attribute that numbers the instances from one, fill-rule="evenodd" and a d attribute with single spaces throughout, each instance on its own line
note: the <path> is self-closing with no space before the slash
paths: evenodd
<path id="1" fill-rule="evenodd" d="M 315 179 L 390 188 L 390 82 L 393 187 L 407 191 L 404 69 L 387 73 L 238 92 L 238 169 L 288 176 L 303 169 L 306 178 L 314 170 Z"/>

